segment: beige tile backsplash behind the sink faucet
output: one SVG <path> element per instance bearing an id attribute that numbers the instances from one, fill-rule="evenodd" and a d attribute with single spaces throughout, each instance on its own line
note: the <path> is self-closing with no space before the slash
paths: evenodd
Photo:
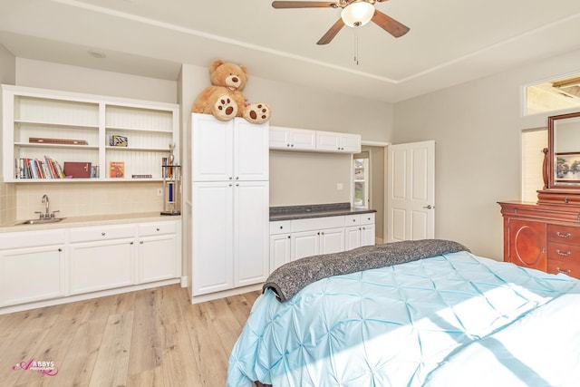
<path id="1" fill-rule="evenodd" d="M 15 218 L 10 220 L 37 218 L 34 211 L 45 209 L 43 195 L 49 198 L 50 211 L 59 210 L 57 217 L 63 218 L 161 211 L 163 197 L 158 196 L 158 190 L 162 187 L 160 181 L 20 183 L 15 185 Z M 10 210 L 7 208 L 6 213 Z M 5 223 L 4 218 L 1 220 Z"/>

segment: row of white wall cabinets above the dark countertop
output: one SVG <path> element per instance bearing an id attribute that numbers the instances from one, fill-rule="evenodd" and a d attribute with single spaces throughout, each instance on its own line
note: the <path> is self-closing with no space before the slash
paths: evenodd
<path id="1" fill-rule="evenodd" d="M 359 153 L 361 135 L 271 126 L 270 149 Z"/>

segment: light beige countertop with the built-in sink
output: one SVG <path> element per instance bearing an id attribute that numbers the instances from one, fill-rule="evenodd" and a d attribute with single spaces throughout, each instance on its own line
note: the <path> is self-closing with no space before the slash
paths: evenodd
<path id="1" fill-rule="evenodd" d="M 59 218 L 59 217 L 57 217 Z M 140 212 L 132 214 L 93 215 L 88 217 L 63 218 L 60 222 L 39 223 L 36 225 L 21 225 L 24 220 L 8 223 L 0 226 L 0 233 L 13 231 L 32 231 L 42 229 L 56 229 L 66 227 L 121 225 L 125 223 L 154 222 L 165 220 L 179 220 L 180 216 L 160 215 L 160 212 Z"/>

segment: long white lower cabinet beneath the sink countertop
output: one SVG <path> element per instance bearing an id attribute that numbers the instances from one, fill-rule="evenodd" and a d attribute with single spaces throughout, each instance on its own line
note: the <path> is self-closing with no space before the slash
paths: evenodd
<path id="1" fill-rule="evenodd" d="M 0 233 L 0 308 L 179 281 L 180 240 L 179 220 Z"/>

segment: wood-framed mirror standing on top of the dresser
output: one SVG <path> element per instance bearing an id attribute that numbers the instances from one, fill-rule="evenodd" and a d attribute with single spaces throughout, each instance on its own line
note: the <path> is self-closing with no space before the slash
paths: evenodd
<path id="1" fill-rule="evenodd" d="M 547 118 L 548 189 L 580 189 L 580 111 Z"/>

